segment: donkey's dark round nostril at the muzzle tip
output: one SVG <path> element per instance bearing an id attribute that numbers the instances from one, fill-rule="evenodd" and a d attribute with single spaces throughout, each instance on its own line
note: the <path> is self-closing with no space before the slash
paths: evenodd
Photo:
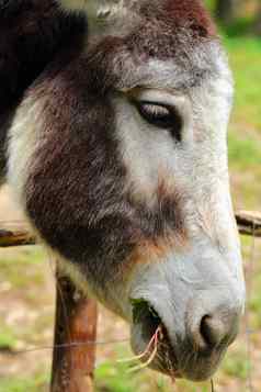
<path id="1" fill-rule="evenodd" d="M 214 348 L 225 338 L 225 325 L 220 320 L 206 315 L 201 321 L 200 334 L 204 346 Z"/>

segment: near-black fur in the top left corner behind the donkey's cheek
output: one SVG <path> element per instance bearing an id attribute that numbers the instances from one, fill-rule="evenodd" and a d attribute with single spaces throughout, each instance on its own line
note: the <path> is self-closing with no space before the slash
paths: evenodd
<path id="1" fill-rule="evenodd" d="M 54 0 L 0 0 L 0 114 L 83 32 L 83 20 L 66 19 Z"/>

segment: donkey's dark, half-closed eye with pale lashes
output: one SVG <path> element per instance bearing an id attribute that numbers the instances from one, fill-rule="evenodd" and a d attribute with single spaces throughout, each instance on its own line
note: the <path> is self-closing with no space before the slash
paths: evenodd
<path id="1" fill-rule="evenodd" d="M 181 139 L 182 119 L 174 108 L 144 101 L 136 103 L 136 107 L 149 124 L 169 130 L 178 141 Z"/>

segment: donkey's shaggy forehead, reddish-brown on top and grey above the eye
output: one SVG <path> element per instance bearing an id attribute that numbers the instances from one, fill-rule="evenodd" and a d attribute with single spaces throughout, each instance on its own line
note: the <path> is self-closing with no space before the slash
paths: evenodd
<path id="1" fill-rule="evenodd" d="M 201 1 L 114 2 L 120 7 L 115 14 L 105 16 L 104 23 L 91 20 L 90 26 L 88 57 L 95 66 L 100 64 L 105 83 L 117 80 L 117 87 L 132 88 L 152 80 L 162 87 L 184 88 L 216 71 L 220 49 Z"/>

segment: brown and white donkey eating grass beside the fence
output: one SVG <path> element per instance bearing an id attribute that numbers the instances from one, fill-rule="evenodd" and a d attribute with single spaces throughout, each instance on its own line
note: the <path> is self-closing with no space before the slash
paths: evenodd
<path id="1" fill-rule="evenodd" d="M 200 0 L 1 0 L 1 178 L 151 368 L 213 376 L 245 305 L 232 79 Z"/>

